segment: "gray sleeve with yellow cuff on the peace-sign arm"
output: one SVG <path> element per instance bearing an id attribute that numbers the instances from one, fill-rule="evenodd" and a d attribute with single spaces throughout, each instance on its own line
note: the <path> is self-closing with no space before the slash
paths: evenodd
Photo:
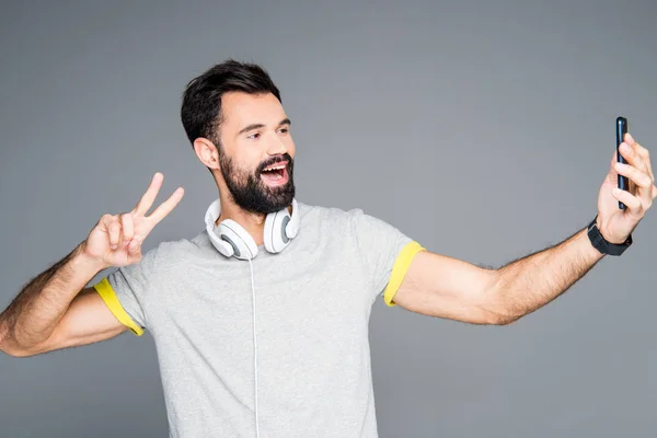
<path id="1" fill-rule="evenodd" d="M 114 316 L 137 336 L 148 326 L 145 309 L 157 252 L 158 247 L 148 251 L 139 262 L 117 268 L 93 286 Z"/>

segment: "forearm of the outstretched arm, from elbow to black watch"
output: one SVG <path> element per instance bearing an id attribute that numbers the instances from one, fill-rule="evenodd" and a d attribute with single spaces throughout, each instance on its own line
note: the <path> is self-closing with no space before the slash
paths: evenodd
<path id="1" fill-rule="evenodd" d="M 499 268 L 493 293 L 498 313 L 505 322 L 511 322 L 545 306 L 568 290 L 602 256 L 584 229 L 555 246 Z"/>

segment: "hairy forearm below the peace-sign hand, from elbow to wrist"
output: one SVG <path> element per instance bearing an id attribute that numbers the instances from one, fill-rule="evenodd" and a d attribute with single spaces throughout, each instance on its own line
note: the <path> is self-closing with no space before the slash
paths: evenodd
<path id="1" fill-rule="evenodd" d="M 104 267 L 81 243 L 32 279 L 0 314 L 0 349 L 28 349 L 48 339 L 73 298 Z"/>

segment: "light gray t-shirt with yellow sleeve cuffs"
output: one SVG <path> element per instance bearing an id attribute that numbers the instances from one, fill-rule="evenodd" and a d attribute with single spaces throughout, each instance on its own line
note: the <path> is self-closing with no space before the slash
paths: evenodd
<path id="1" fill-rule="evenodd" d="M 253 260 L 262 438 L 376 438 L 368 324 L 422 250 L 360 209 L 298 204 L 300 230 Z M 158 351 L 171 437 L 255 437 L 249 262 L 207 231 L 162 242 L 94 286 Z"/>

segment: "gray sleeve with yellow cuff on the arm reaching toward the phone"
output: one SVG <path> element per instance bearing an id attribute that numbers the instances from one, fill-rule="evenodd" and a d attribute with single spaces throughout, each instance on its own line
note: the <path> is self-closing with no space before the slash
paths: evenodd
<path id="1" fill-rule="evenodd" d="M 413 257 L 424 247 L 395 227 L 360 209 L 351 210 L 351 229 L 373 293 L 383 295 L 387 306 L 396 306 L 394 295 Z"/>

